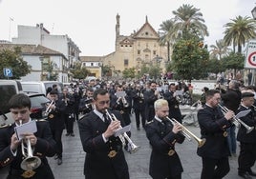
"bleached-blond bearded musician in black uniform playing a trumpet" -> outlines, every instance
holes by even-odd
[[[153,179],[181,179],[181,160],[175,150],[175,143],[182,143],[184,135],[181,126],[166,119],[168,102],[159,99],[154,103],[155,118],[146,127],[146,136],[152,146],[149,174]]]

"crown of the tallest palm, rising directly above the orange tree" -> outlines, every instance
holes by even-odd
[[[208,36],[209,33],[204,25],[203,13],[199,10],[192,5],[182,5],[178,10],[173,10],[176,31],[181,30],[182,35],[193,32],[202,38]]]

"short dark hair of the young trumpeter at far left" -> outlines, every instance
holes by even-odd
[[[14,94],[8,103],[9,109],[32,108],[32,102],[29,96],[24,93]]]

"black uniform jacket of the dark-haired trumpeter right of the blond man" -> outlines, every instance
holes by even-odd
[[[224,118],[222,110],[204,105],[204,108],[198,111],[198,121],[202,138],[206,139],[203,147],[198,148],[198,155],[214,159],[227,157],[230,153],[226,129],[231,123]]]

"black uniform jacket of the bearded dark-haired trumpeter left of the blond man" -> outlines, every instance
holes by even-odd
[[[118,111],[113,113],[118,120],[122,120]],[[123,125],[124,122],[121,121],[121,124]],[[106,143],[103,140],[102,133],[107,127],[94,111],[87,113],[78,121],[81,143],[86,152],[85,177],[89,179],[128,179],[128,165],[124,158],[120,139],[112,136]],[[117,152],[117,154],[110,157],[111,151]]]

